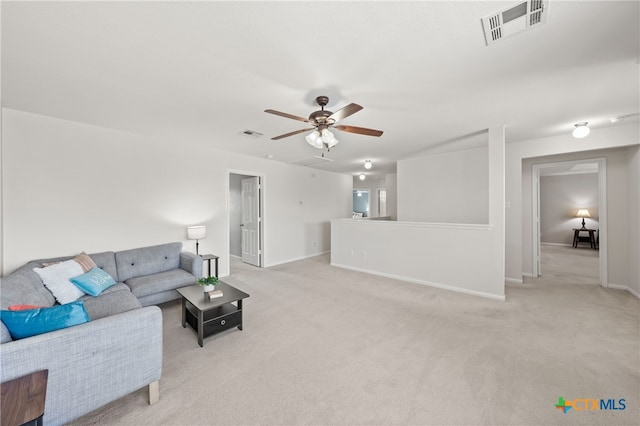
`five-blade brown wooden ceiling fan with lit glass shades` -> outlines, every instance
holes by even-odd
[[[358,133],[360,135],[367,136],[382,135],[381,130],[367,129],[364,127],[356,126],[346,126],[342,124],[336,125],[338,121],[360,111],[362,109],[360,105],[352,103],[342,109],[339,109],[336,112],[331,112],[324,109],[324,107],[329,103],[329,98],[327,96],[318,96],[316,98],[316,102],[318,103],[318,105],[320,105],[320,110],[312,112],[311,115],[309,115],[309,118],[298,117],[296,115],[287,114],[286,112],[280,112],[273,109],[264,110],[264,112],[268,112],[269,114],[291,118],[292,120],[303,121],[313,126],[306,129],[296,130],[295,132],[285,133],[284,135],[273,137],[271,138],[271,140],[275,141],[312,130],[312,132],[305,137],[306,141],[309,142],[309,145],[318,149],[326,148],[327,151],[329,151],[331,148],[338,144],[338,140],[335,138],[335,136],[333,136],[333,133],[329,131],[330,128],[341,130],[343,132]]]

